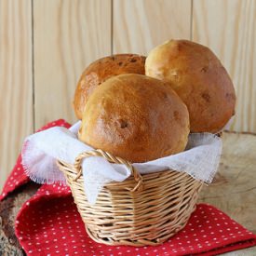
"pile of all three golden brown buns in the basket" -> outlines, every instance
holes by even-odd
[[[74,94],[78,138],[132,163],[182,152],[189,132],[220,131],[236,94],[208,47],[170,40],[147,58],[117,54],[91,63]]]

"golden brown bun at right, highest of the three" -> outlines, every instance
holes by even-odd
[[[233,83],[208,47],[170,40],[149,53],[145,73],[170,83],[187,105],[193,132],[217,132],[235,114]]]

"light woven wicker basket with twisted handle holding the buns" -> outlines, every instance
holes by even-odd
[[[88,204],[81,170],[82,159],[91,155],[125,164],[132,173],[124,182],[105,185],[95,205]],[[202,187],[202,182],[173,170],[141,176],[127,161],[101,150],[79,155],[74,165],[60,161],[58,165],[71,187],[88,236],[107,245],[140,247],[165,242],[184,227]]]

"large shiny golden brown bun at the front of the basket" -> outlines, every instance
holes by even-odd
[[[164,82],[141,74],[120,74],[90,96],[79,139],[130,162],[182,152],[189,115]]]

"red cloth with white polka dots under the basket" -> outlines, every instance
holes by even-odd
[[[70,125],[57,120],[44,128]],[[28,182],[17,164],[7,179],[0,199]],[[27,255],[166,256],[217,255],[256,245],[256,236],[219,209],[198,204],[189,222],[178,234],[156,247],[106,246],[90,239],[67,186],[44,184],[20,209],[16,235]]]

